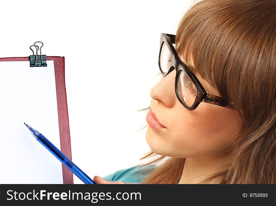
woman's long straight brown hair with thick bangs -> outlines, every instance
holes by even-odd
[[[231,99],[242,120],[232,161],[200,183],[219,177],[218,183],[275,184],[276,1],[199,1],[181,19],[175,42],[178,55],[187,65],[192,59],[194,70]],[[142,183],[175,184],[184,163],[170,157]]]

